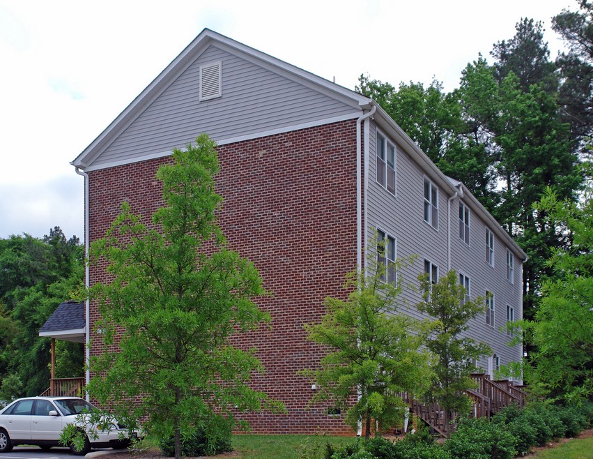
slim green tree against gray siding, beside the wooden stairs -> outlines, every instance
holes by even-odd
[[[484,311],[484,299],[468,298],[455,271],[449,271],[436,283],[431,283],[426,274],[419,280],[424,301],[416,308],[433,319],[426,339],[426,348],[436,356],[435,384],[429,396],[445,409],[448,426],[453,413],[467,414],[470,409],[471,400],[465,391],[475,386],[472,361],[491,352],[485,343],[462,337],[469,321]]]

